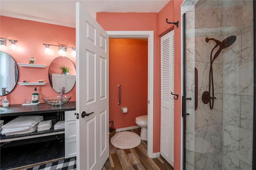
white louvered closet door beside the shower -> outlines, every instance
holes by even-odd
[[[174,162],[174,30],[161,37],[161,133],[160,154]]]

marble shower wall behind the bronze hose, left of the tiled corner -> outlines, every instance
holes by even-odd
[[[198,69],[198,108],[195,111],[194,169],[221,170],[222,167],[222,53],[214,60],[214,107],[202,102],[202,93],[209,91],[210,54],[216,43],[206,38],[222,40],[222,2],[199,1],[195,10],[195,67]],[[214,49],[212,56],[218,48]]]

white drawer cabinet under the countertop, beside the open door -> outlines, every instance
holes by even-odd
[[[65,158],[76,156],[76,111],[65,111]]]

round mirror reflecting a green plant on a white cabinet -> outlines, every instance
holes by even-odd
[[[64,87],[64,93],[68,93],[76,83],[76,67],[68,57],[57,57],[49,67],[48,77],[54,91],[59,93]]]

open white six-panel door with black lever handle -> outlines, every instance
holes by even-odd
[[[109,152],[108,34],[76,3],[77,169],[100,170]],[[86,115],[89,114],[89,115]]]

